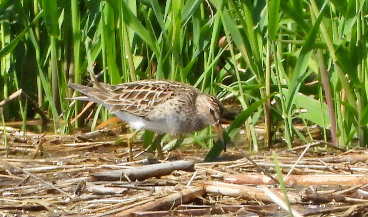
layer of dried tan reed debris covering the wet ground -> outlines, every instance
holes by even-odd
[[[10,147],[0,159],[2,216],[366,216],[368,151],[306,146],[242,157],[247,147],[229,148],[227,161],[203,162],[203,150],[180,147],[151,164],[116,135],[100,131],[74,136],[7,129]],[[98,141],[102,138],[103,141]],[[2,141],[1,141],[2,143]],[[321,146],[319,146],[321,147]],[[303,149],[306,150],[303,152]],[[5,156],[5,147],[0,147]],[[231,157],[234,156],[234,157]],[[254,165],[256,164],[257,167]],[[289,173],[289,174],[288,174]],[[288,175],[286,175],[288,174]],[[286,196],[291,210],[285,203]]]

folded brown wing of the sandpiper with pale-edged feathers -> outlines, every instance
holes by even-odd
[[[94,97],[110,105],[110,113],[123,111],[145,119],[165,115],[168,106],[180,108],[194,103],[199,91],[190,85],[167,80],[142,80],[118,85],[96,83],[95,86],[98,91],[93,92]]]

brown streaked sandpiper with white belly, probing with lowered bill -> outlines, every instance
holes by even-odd
[[[85,95],[75,99],[102,104],[109,113],[135,129],[127,142],[130,161],[133,161],[131,142],[140,130],[177,135],[196,132],[211,124],[226,150],[219,123],[223,106],[212,95],[170,80],[141,80],[117,85],[95,81],[94,85],[69,84],[69,87]],[[159,158],[163,158],[160,144],[156,148]]]

